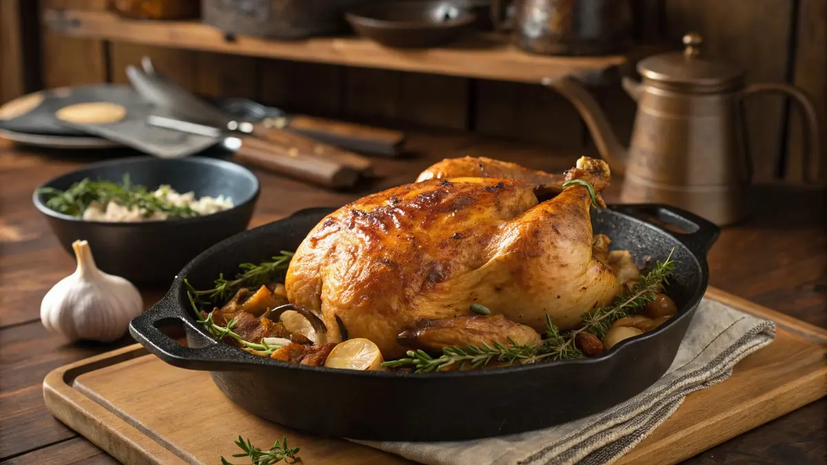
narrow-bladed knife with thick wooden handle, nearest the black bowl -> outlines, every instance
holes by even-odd
[[[147,116],[146,123],[151,127],[164,127],[218,139],[224,148],[233,152],[236,161],[290,175],[317,185],[347,188],[352,187],[359,180],[359,172],[351,166],[313,154],[299,155],[299,151],[295,148],[287,148],[256,137],[243,134],[228,135],[218,127],[158,114]]]

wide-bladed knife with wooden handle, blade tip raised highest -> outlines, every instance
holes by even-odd
[[[169,108],[170,111],[184,119],[207,123],[214,127],[226,128],[232,132],[250,134],[276,144],[281,144],[287,148],[294,148],[299,151],[299,156],[303,156],[306,153],[313,153],[316,156],[349,165],[365,174],[370,173],[372,170],[372,162],[365,156],[343,151],[335,146],[322,142],[313,141],[298,133],[287,132],[284,128],[277,127],[276,125],[265,126],[262,122],[251,123],[238,121],[235,117],[232,117],[232,115],[203,101],[193,93],[189,93],[189,91],[175,84],[171,79],[160,76],[157,72],[150,75],[130,65],[127,66],[127,76],[136,91],[141,93],[144,98],[160,107]]]

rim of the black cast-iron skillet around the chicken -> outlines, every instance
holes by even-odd
[[[614,208],[613,208],[614,207]],[[718,236],[719,229],[715,227],[715,225],[705,222],[702,224],[698,224],[699,227],[695,232],[690,232],[686,234],[670,232],[663,228],[657,227],[657,225],[653,223],[649,223],[644,221],[640,218],[635,218],[634,216],[630,215],[629,213],[624,213],[619,211],[619,209],[623,209],[623,207],[629,207],[629,205],[610,205],[607,209],[602,209],[603,211],[607,211],[610,214],[619,215],[620,217],[624,218],[625,221],[632,221],[633,223],[637,223],[638,226],[643,226],[645,228],[649,228],[653,233],[667,238],[669,242],[674,243],[675,247],[683,247],[685,252],[689,256],[691,256],[695,263],[693,267],[700,271],[700,284],[698,285],[694,294],[691,295],[690,298],[687,300],[687,304],[681,306],[678,309],[678,315],[676,318],[672,318],[667,320],[666,324],[662,324],[661,326],[657,327],[655,330],[649,333],[643,333],[640,336],[635,338],[630,338],[618,343],[614,348],[609,351],[605,351],[598,357],[584,357],[578,359],[566,359],[566,360],[555,360],[552,362],[541,362],[541,363],[533,363],[527,365],[519,365],[519,366],[509,366],[509,367],[496,367],[490,368],[487,370],[472,370],[472,371],[451,371],[451,372],[424,372],[424,373],[417,373],[417,372],[391,372],[391,371],[370,371],[370,372],[361,372],[356,370],[342,370],[337,368],[328,368],[328,367],[309,367],[307,365],[299,365],[296,363],[289,363],[289,362],[282,362],[279,360],[273,360],[269,357],[259,357],[247,352],[242,351],[240,348],[233,347],[229,344],[222,343],[213,338],[212,335],[207,333],[205,329],[201,327],[200,324],[197,324],[194,320],[194,315],[189,310],[189,304],[187,303],[187,299],[185,296],[185,288],[184,288],[184,279],[192,271],[196,266],[199,266],[202,262],[208,261],[211,256],[220,253],[223,249],[227,247],[232,247],[232,245],[236,244],[237,242],[241,242],[242,240],[246,240],[247,236],[254,235],[256,233],[261,233],[261,230],[264,228],[275,228],[275,224],[281,223],[285,220],[289,220],[290,218],[298,218],[300,215],[306,214],[313,214],[313,213],[320,213],[323,216],[319,219],[321,221],[323,218],[327,216],[327,214],[332,213],[339,207],[318,207],[312,209],[302,209],[297,212],[292,213],[288,217],[281,218],[280,220],[276,220],[275,222],[266,223],[261,225],[257,228],[252,228],[244,232],[239,232],[235,236],[228,237],[222,242],[218,242],[218,244],[214,245],[213,247],[208,248],[206,251],[202,252],[198,256],[196,256],[192,261],[190,261],[184,269],[182,269],[178,275],[175,276],[175,279],[170,285],[170,290],[167,294],[155,305],[152,306],[150,310],[146,312],[148,314],[155,309],[156,306],[165,306],[168,305],[170,309],[174,309],[177,315],[174,315],[173,318],[179,319],[180,323],[194,329],[197,333],[199,338],[202,338],[205,341],[210,341],[206,343],[202,348],[210,348],[217,345],[226,346],[227,350],[232,351],[232,355],[236,356],[235,359],[222,359],[222,360],[213,360],[213,361],[205,361],[206,364],[211,362],[216,363],[217,365],[223,364],[231,364],[233,367],[215,367],[216,369],[211,368],[194,368],[194,367],[186,367],[183,364],[178,365],[180,367],[184,367],[186,369],[194,369],[199,371],[211,371],[211,372],[254,372],[259,370],[271,370],[275,368],[286,368],[286,369],[293,369],[293,370],[302,370],[304,372],[312,372],[312,373],[335,373],[337,376],[360,376],[367,379],[389,379],[389,380],[398,380],[398,379],[418,379],[423,381],[430,381],[434,379],[454,379],[457,377],[466,377],[466,376],[498,376],[502,373],[511,373],[511,372],[531,372],[535,370],[543,370],[543,369],[552,369],[553,367],[560,367],[562,365],[600,365],[600,364],[608,364],[613,357],[619,357],[616,354],[629,352],[633,350],[638,344],[642,344],[649,339],[658,338],[662,335],[662,333],[666,332],[668,328],[671,328],[673,325],[678,324],[679,321],[685,318],[691,318],[694,314],[694,310],[697,309],[700,301],[703,299],[705,295],[706,289],[709,286],[709,268],[706,261],[705,250],[694,250],[694,247],[691,246],[689,239],[694,237],[699,230],[703,230],[704,228],[711,229],[708,234],[710,238],[708,239],[709,244],[706,244],[705,248],[708,249],[712,243],[715,242],[715,239]],[[650,209],[667,209],[672,210],[672,212],[677,212],[684,214],[686,213],[690,218],[690,221],[704,221],[703,218],[696,218],[695,215],[691,213],[685,212],[681,209],[676,209],[672,206],[666,206],[661,204],[639,204],[636,205],[639,209],[643,208],[650,208]],[[325,212],[325,213],[323,213]],[[714,228],[714,229],[713,229]],[[681,239],[683,237],[683,239]],[[693,273],[696,271],[693,271]],[[184,302],[182,307],[181,303]],[[171,313],[171,312],[170,312]],[[185,318],[181,318],[181,314],[185,315]],[[140,318],[140,317],[137,317]],[[152,322],[150,322],[152,324]],[[130,329],[132,330],[132,324],[130,324]],[[132,332],[132,331],[131,331]],[[144,345],[145,348],[149,349],[149,352],[155,353],[155,355],[159,355],[155,351],[151,350],[150,347],[144,343],[144,340],[151,343],[150,338],[146,338],[143,334],[141,334],[141,338],[138,339],[138,342],[141,345]],[[133,336],[135,334],[133,333]],[[166,336],[163,336],[166,337]],[[188,333],[188,338],[191,338]],[[183,346],[182,346],[183,347]],[[160,357],[160,356],[159,356]],[[165,359],[165,357],[160,357],[161,359]],[[188,360],[188,357],[173,357],[174,359],[179,359],[184,362]],[[192,360],[192,359],[190,359]],[[170,363],[168,360],[165,362]],[[174,363],[170,363],[175,365]]]

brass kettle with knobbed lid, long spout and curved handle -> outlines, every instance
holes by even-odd
[[[643,81],[623,79],[638,103],[629,150],[614,136],[605,114],[575,79],[543,84],[568,98],[581,113],[595,146],[614,174],[624,175],[624,203],[672,204],[725,225],[748,213],[751,163],[740,103],[755,93],[787,93],[805,116],[805,170],[819,156],[815,108],[802,89],[788,84],[746,86],[743,70],[700,54],[697,33],[683,37],[683,52],[638,63]],[[809,180],[805,171],[805,180]]]

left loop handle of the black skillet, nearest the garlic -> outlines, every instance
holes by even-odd
[[[208,338],[197,330],[188,331],[188,333],[193,336],[196,343],[203,344],[203,346],[198,348],[182,346],[158,328],[168,324],[183,324],[185,328],[193,326],[174,308],[170,294],[131,320],[129,333],[132,338],[141,343],[146,350],[174,367],[219,371],[222,358],[224,358],[222,356],[225,350],[230,348],[229,346]]]

